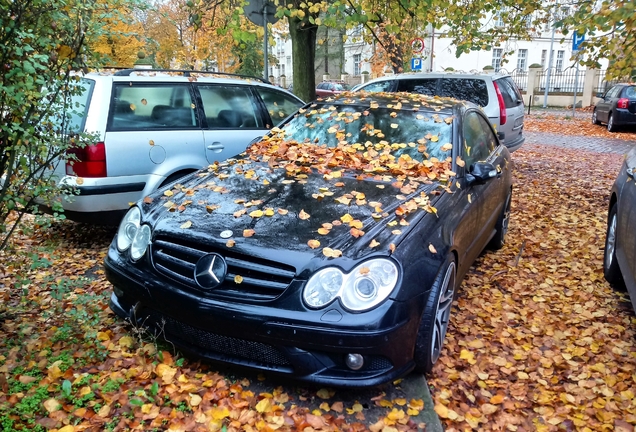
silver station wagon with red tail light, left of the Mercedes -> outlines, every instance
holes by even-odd
[[[223,77],[221,77],[223,75]],[[97,140],[71,149],[56,174],[77,195],[68,219],[116,224],[156,189],[244,151],[303,102],[258,78],[196,71],[126,69],[82,75],[69,113]],[[79,112],[77,112],[79,111]],[[45,209],[46,210],[46,209]]]

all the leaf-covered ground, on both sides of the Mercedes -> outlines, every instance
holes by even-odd
[[[587,135],[576,122],[527,126]],[[636,320],[602,274],[621,160],[539,145],[513,154],[508,244],[466,277],[429,380],[447,430],[633,430]],[[107,307],[101,262],[113,235],[31,222],[0,256],[0,430],[424,428],[424,402],[400,383],[298,388],[219,372],[144,337]]]

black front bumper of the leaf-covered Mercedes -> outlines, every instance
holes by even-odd
[[[414,367],[422,298],[388,300],[358,314],[337,305],[319,311],[285,309],[276,306],[286,303],[280,298],[261,304],[228,302],[196,295],[147,268],[126,264],[114,249],[105,260],[106,277],[115,287],[111,309],[154,328],[185,352],[331,386],[379,385]],[[361,369],[346,366],[349,353],[364,357]]]

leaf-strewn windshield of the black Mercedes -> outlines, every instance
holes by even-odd
[[[395,157],[408,154],[422,162],[425,158],[443,160],[450,156],[444,145],[452,139],[451,123],[452,116],[435,112],[319,105],[296,116],[282,129],[285,140],[328,147],[387,147]]]

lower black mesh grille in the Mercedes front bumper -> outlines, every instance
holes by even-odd
[[[258,362],[266,367],[290,366],[285,355],[271,345],[210,333],[173,318],[162,316],[155,311],[150,312],[149,317],[168,340],[176,338],[198,350],[207,352],[207,354],[218,355],[211,355],[211,357],[229,356]]]

